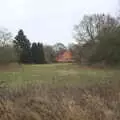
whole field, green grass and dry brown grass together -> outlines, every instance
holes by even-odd
[[[120,71],[73,64],[0,70],[0,120],[119,120]]]

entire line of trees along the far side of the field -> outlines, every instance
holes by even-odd
[[[120,64],[119,17],[106,14],[85,15],[74,26],[73,33],[76,44],[71,43],[66,47],[62,43],[31,43],[23,30],[19,30],[15,39],[11,40],[10,32],[0,30],[0,63],[53,63],[61,51],[69,50],[76,63],[104,66]]]

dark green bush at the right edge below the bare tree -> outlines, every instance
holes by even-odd
[[[120,64],[120,27],[111,29],[99,36],[100,42],[91,55],[90,62],[104,61],[106,65]]]

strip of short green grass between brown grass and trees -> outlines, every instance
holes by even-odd
[[[87,68],[72,64],[23,65],[19,69],[0,71],[0,80],[10,86],[40,82],[84,87],[118,79],[119,70]]]

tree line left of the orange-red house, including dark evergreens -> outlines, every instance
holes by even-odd
[[[31,43],[21,29],[12,39],[7,29],[0,30],[0,64],[18,62],[23,64],[45,64],[56,62],[60,51],[67,49],[62,43],[43,45]]]

